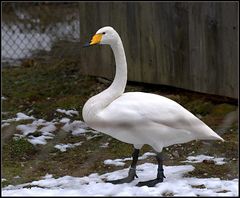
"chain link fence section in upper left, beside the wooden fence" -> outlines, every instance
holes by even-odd
[[[3,65],[49,54],[73,56],[79,40],[78,2],[2,3]]]

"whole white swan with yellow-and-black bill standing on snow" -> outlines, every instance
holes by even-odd
[[[87,46],[94,44],[110,45],[116,61],[116,74],[108,89],[85,103],[83,119],[91,128],[133,144],[135,148],[128,177],[110,182],[124,183],[134,179],[139,149],[144,144],[152,146],[158,153],[158,175],[154,180],[139,182],[138,186],[154,186],[163,181],[163,147],[195,139],[223,141],[206,124],[173,100],[150,93],[124,93],[127,62],[121,38],[112,27],[99,29]]]

